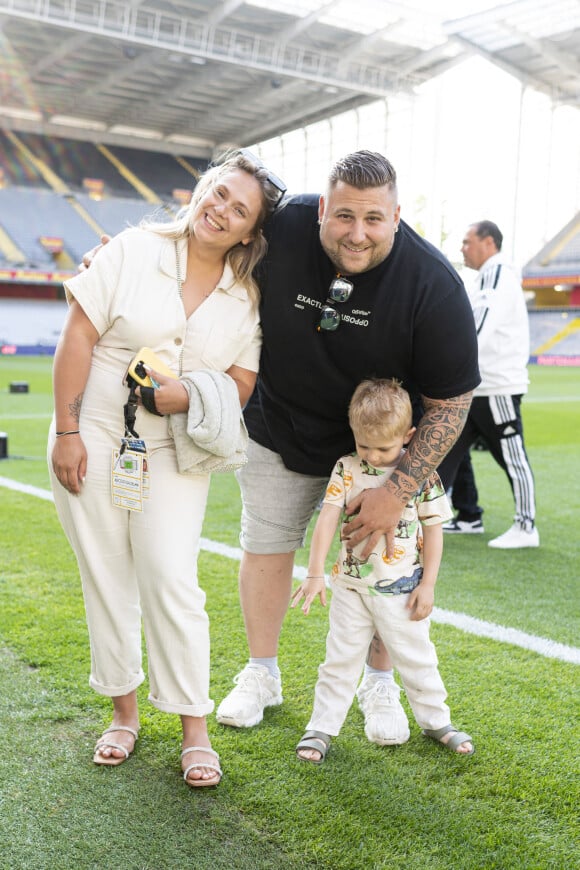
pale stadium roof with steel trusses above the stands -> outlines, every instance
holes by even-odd
[[[0,0],[0,124],[210,157],[474,54],[580,107],[579,46],[578,0]]]

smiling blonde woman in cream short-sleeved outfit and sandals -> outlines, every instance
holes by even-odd
[[[283,192],[256,158],[236,152],[205,173],[174,222],[122,232],[90,270],[65,283],[70,308],[54,359],[49,466],[82,578],[90,685],[113,703],[94,761],[121,764],[135,746],[142,621],[149,698],[181,717],[182,769],[194,787],[221,778],[205,719],[213,710],[209,630],[196,573],[209,475],[179,473],[170,417],[140,406],[133,426],[124,422],[124,375],[148,346],[176,376],[226,372],[243,407],[261,342],[252,272],[266,248],[261,227]],[[152,375],[157,411],[187,412],[184,384]],[[131,429],[147,453],[142,463],[132,454],[138,497],[127,509],[113,504],[112,493],[118,496],[120,455],[130,465],[121,439]],[[129,444],[129,453],[131,446],[139,450]]]

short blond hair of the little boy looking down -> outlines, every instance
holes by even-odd
[[[361,381],[348,407],[350,428],[372,435],[406,435],[413,425],[409,393],[396,378]]]

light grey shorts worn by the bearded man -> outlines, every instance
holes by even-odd
[[[306,530],[326,491],[327,477],[289,471],[280,456],[255,441],[236,471],[242,491],[240,543],[248,553],[290,553],[304,546]]]

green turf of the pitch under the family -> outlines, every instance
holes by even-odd
[[[0,476],[48,487],[50,360],[0,359]],[[507,481],[476,453],[485,535],[446,538],[437,605],[578,643],[578,369],[531,369],[524,420],[538,484],[539,550],[491,551],[511,522]],[[9,394],[11,380],[30,393]],[[16,458],[17,456],[27,458]],[[574,486],[576,479],[576,486]],[[239,496],[212,482],[204,536],[237,546]],[[194,792],[179,775],[176,717],[140,689],[142,731],[117,769],[92,765],[108,702],[88,687],[74,558],[50,502],[0,488],[0,868],[328,868],[561,870],[578,852],[578,668],[433,624],[456,724],[476,754],[421,737],[380,748],[353,705],[327,762],[298,762],[324,655],[326,612],[292,611],[280,660],[285,701],[248,731],[210,733],[225,776]],[[299,561],[305,563],[305,554]],[[212,626],[212,694],[246,656],[235,561],[202,552]],[[405,702],[406,703],[406,702]]]

